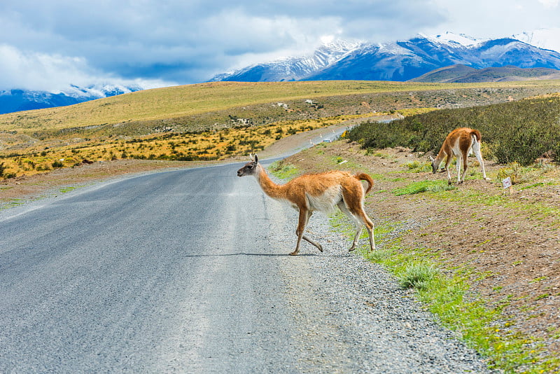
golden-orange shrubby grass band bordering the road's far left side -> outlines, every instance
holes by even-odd
[[[382,116],[386,113],[377,113]],[[367,116],[374,116],[369,113]],[[2,158],[3,176],[31,175],[83,162],[135,158],[141,160],[221,160],[265,149],[292,134],[336,125],[363,116],[336,116],[319,120],[283,121],[264,126],[232,127],[192,134],[151,134],[128,139],[83,141],[43,149],[31,146]]]

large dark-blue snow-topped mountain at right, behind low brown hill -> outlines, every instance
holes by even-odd
[[[386,46],[370,45],[369,48],[354,51],[307,79],[407,81],[453,64],[464,64],[475,69],[507,65],[560,69],[560,53],[514,39],[496,39],[463,46],[459,43],[440,43],[421,36],[410,41]]]

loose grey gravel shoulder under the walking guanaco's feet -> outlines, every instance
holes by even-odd
[[[271,243],[283,245],[288,253],[295,245],[297,216],[281,204],[276,212],[286,227]],[[405,223],[399,230],[417,225]],[[282,263],[300,331],[294,353],[301,372],[496,373],[423,310],[413,291],[400,289],[380,265],[349,253],[349,238],[335,232],[327,216],[314,215],[308,231],[323,244],[323,253],[302,243],[300,255],[286,256]],[[383,249],[383,241],[376,240]]]

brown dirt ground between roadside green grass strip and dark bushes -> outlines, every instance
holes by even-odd
[[[465,183],[442,193],[395,194],[413,182],[445,179],[445,174],[411,172],[408,164],[427,161],[405,148],[373,154],[338,141],[311,148],[286,162],[305,172],[360,169],[374,176],[366,210],[376,224],[419,223],[400,245],[428,254],[449,271],[470,271],[473,298],[502,307],[499,330],[516,329],[542,339],[560,354],[560,172],[549,167],[534,181],[514,186],[510,195],[497,178],[500,165],[485,162]],[[342,163],[344,162],[344,164]],[[338,165],[337,165],[338,164]],[[453,169],[451,175],[454,176]]]

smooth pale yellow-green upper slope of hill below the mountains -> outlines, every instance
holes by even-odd
[[[126,123],[134,120],[179,118],[249,104],[315,99],[367,92],[515,88],[559,85],[560,81],[498,83],[409,83],[389,81],[304,81],[273,83],[213,82],[132,92],[71,106],[7,113],[0,116],[0,131],[63,129]]]

